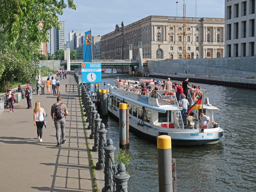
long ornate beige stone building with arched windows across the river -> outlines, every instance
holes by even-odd
[[[181,59],[183,17],[148,16],[135,23],[116,25],[115,31],[101,37],[101,59],[138,59],[142,41],[143,58]],[[186,18],[186,53],[188,58],[224,57],[224,19]]]

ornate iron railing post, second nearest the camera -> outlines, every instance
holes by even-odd
[[[112,139],[108,139],[106,141],[106,147],[104,147],[105,151],[105,167],[104,167],[104,187],[102,188],[102,192],[110,192],[111,191],[111,179],[113,178],[112,172],[112,158],[114,158],[116,147],[113,146]]]

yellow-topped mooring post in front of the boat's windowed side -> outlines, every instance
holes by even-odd
[[[129,121],[127,121],[127,110],[126,103],[119,104],[119,146],[129,146]],[[129,117],[128,117],[129,120]]]

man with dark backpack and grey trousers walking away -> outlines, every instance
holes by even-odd
[[[62,136],[62,144],[66,143],[65,138],[65,127],[66,127],[66,116],[69,114],[67,106],[61,102],[61,97],[57,97],[57,102],[52,105],[51,108],[51,116],[54,121],[55,129],[56,129],[56,138],[57,145],[60,144],[60,129]]]

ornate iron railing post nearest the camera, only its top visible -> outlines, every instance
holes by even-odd
[[[117,166],[117,171],[117,174],[113,176],[116,183],[115,192],[127,192],[127,183],[130,175],[125,172],[125,165],[123,163]]]

